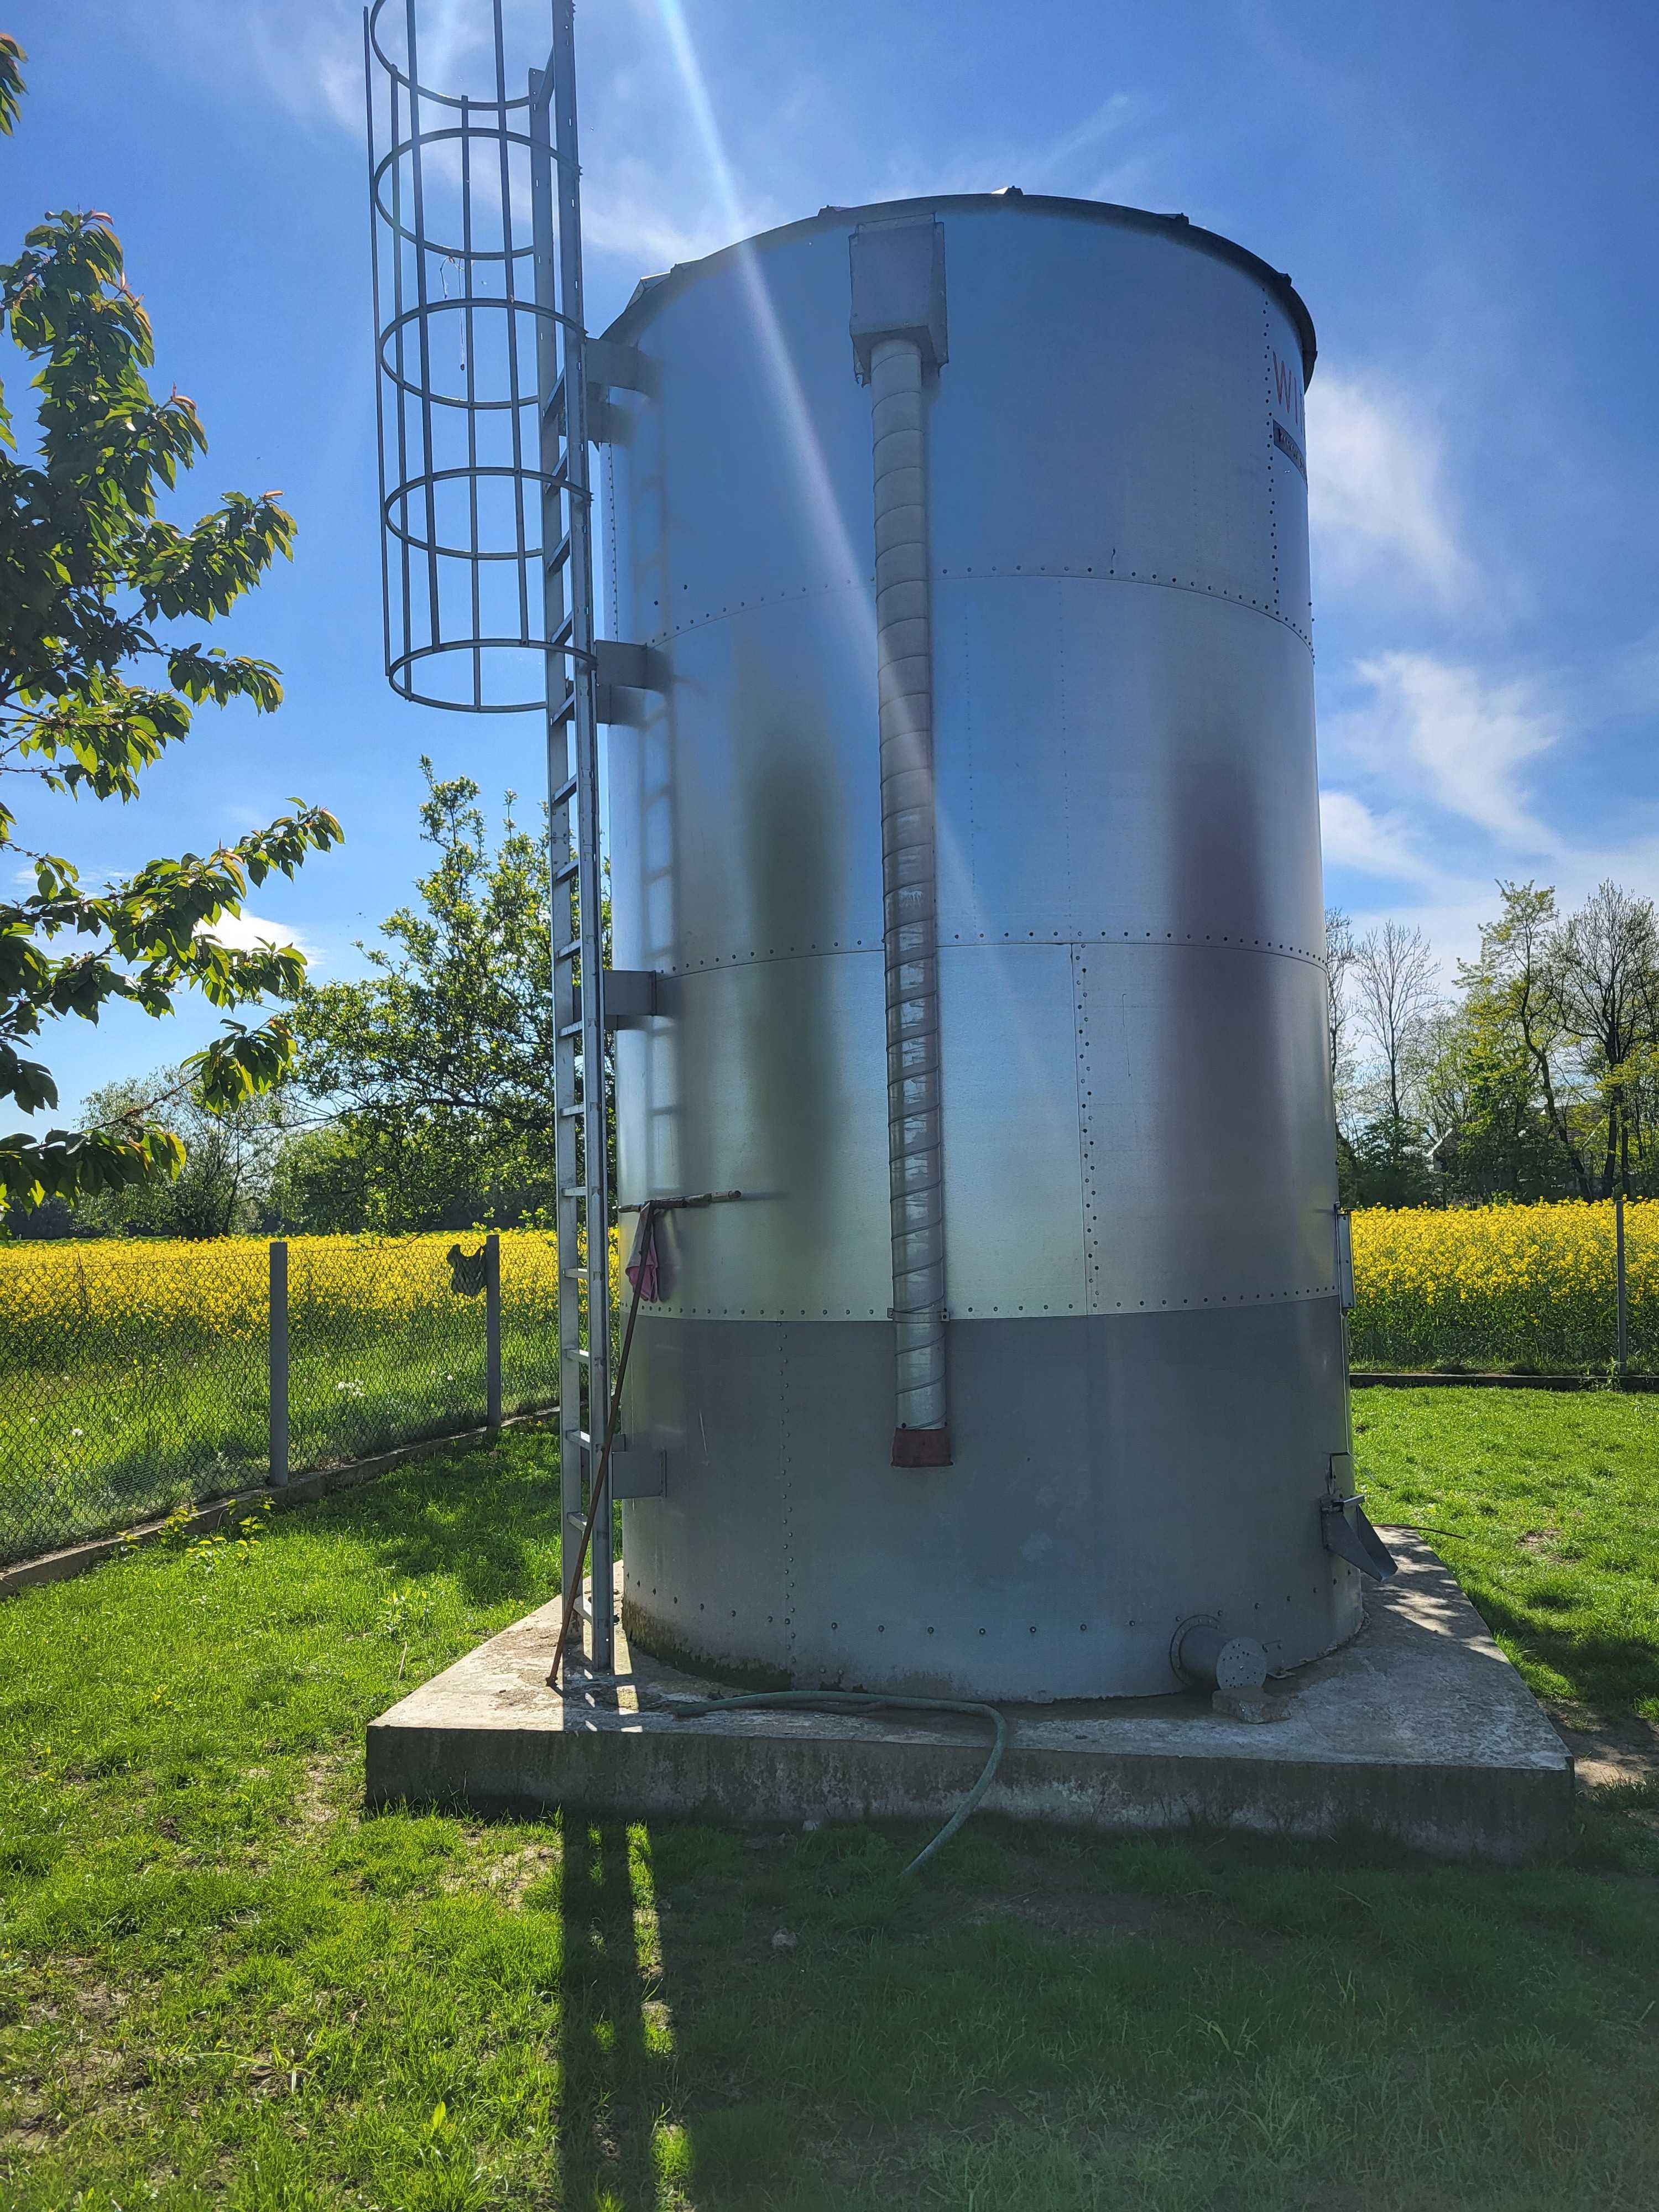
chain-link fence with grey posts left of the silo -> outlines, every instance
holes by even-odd
[[[551,1407],[555,1241],[498,1250],[495,1296],[478,1234],[0,1245],[0,1564],[478,1429],[491,1345],[498,1411]]]

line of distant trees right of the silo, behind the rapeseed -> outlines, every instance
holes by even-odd
[[[1604,883],[1575,911],[1500,883],[1442,987],[1420,929],[1325,916],[1338,1175],[1352,1206],[1659,1190],[1659,920]]]

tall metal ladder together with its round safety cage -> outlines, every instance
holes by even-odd
[[[471,55],[484,88],[445,93],[420,77],[420,18],[422,0],[372,0],[363,15],[385,668],[394,690],[420,706],[546,717],[568,1597],[580,1571],[571,1528],[586,1520],[591,1438],[611,1398],[575,22],[573,0],[553,0],[549,64],[509,93],[502,0],[491,0],[478,11],[484,29]],[[467,60],[465,44],[458,58]],[[606,376],[619,367],[604,363]],[[582,1608],[599,1672],[613,1666],[611,1551],[604,1502]]]

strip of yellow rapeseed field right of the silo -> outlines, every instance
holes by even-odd
[[[1626,1206],[1630,1363],[1659,1356],[1659,1199]],[[1613,1206],[1354,1214],[1356,1367],[1606,1367],[1615,1354]]]

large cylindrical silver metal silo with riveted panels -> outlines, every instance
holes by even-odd
[[[1327,1650],[1303,303],[1181,217],[975,195],[606,336],[619,1194],[743,1190],[659,1228],[624,1626],[1015,1699],[1170,1690],[1194,1617]]]

